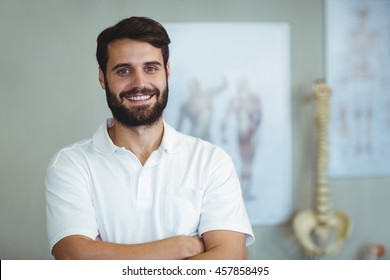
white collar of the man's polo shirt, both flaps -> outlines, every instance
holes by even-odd
[[[109,118],[94,133],[92,137],[93,146],[98,152],[110,155],[118,149],[121,149],[112,142],[110,136],[108,135],[108,128],[113,125],[114,120]],[[164,121],[164,135],[159,150],[169,154],[179,151],[181,144],[179,136],[180,133]]]

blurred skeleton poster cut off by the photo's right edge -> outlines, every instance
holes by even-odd
[[[390,0],[326,2],[329,176],[390,175]]]

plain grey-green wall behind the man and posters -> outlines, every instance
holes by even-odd
[[[294,209],[311,207],[312,82],[323,77],[322,0],[2,0],[0,2],[0,258],[48,259],[44,176],[53,153],[109,116],[97,81],[98,33],[121,18],[288,21],[292,40]],[[355,231],[333,258],[371,242],[390,248],[390,179],[332,182]],[[290,224],[255,228],[254,259],[299,259]]]

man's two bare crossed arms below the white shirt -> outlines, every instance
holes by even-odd
[[[56,259],[244,259],[245,234],[215,230],[196,236],[175,236],[142,244],[116,244],[81,235],[61,239]]]

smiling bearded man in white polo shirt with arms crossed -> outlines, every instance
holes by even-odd
[[[159,23],[141,17],[98,36],[113,118],[48,167],[56,259],[242,259],[253,242],[230,157],[163,120],[169,43]]]

